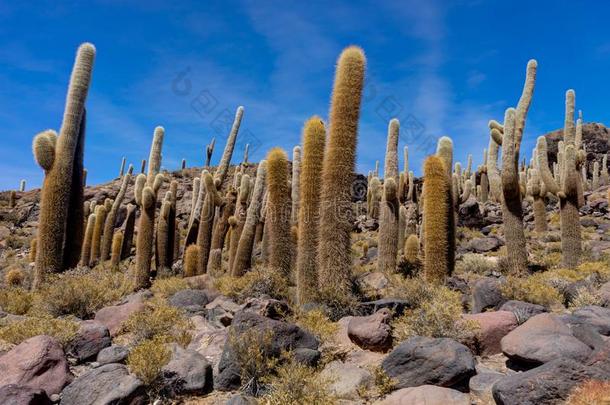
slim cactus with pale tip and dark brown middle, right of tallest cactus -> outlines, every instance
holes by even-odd
[[[398,200],[398,133],[400,124],[392,119],[388,125],[388,139],[384,163],[383,196],[379,220],[379,257],[377,270],[394,273],[398,255],[398,225],[400,202]]]

